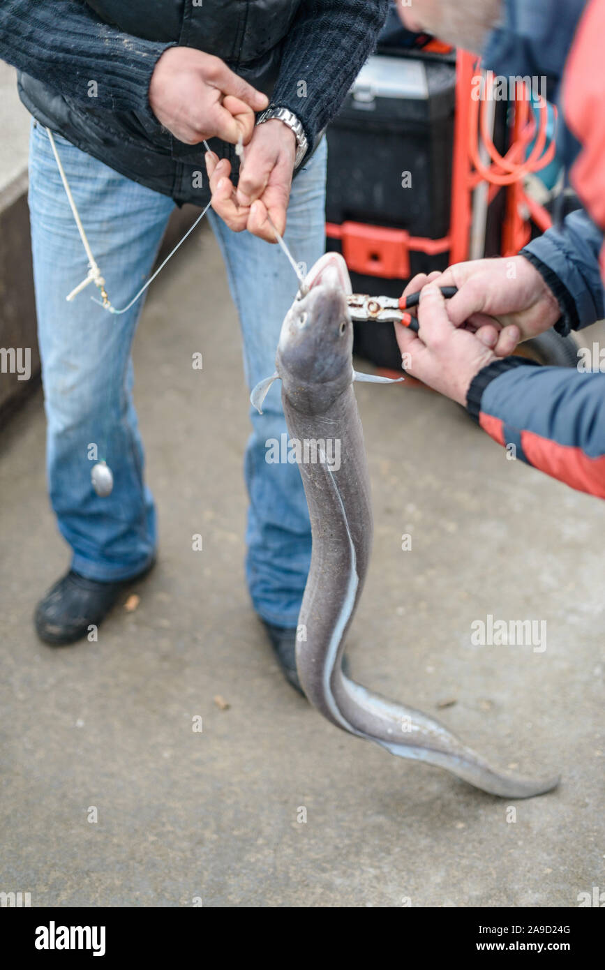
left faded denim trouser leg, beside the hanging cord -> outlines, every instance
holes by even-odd
[[[123,307],[151,269],[174,203],[55,141],[111,302]],[[130,349],[143,301],[114,316],[90,300],[98,296],[90,284],[66,302],[86,275],[86,256],[41,125],[32,126],[29,176],[50,501],[73,568],[91,579],[125,579],[148,565],[156,543],[132,402]],[[90,445],[113,471],[105,499],[91,487]]]

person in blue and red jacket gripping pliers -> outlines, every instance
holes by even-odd
[[[558,100],[558,152],[587,211],[572,212],[513,259],[415,276],[418,336],[396,326],[406,371],[466,406],[526,464],[605,498],[605,374],[536,367],[517,343],[605,316],[605,0],[398,0],[403,23],[483,52],[498,76],[548,78]],[[562,83],[561,83],[562,81]],[[592,221],[594,220],[594,221]],[[600,265],[599,265],[600,260]],[[458,287],[447,302],[439,287]]]

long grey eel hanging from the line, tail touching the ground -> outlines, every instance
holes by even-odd
[[[255,388],[251,399],[260,410],[271,381],[280,377],[291,439],[301,447],[303,442],[319,442],[320,460],[299,464],[313,540],[297,643],[304,693],[336,727],[401,758],[436,764],[484,792],[507,798],[549,792],[557,777],[531,779],[500,771],[438,721],[372,694],[341,670],[345,637],[366,579],[373,530],[366,447],[353,390],[354,379],[365,375],[352,367],[345,299],[350,282],[344,261],[327,254],[307,282],[308,293],[284,320],[277,370]],[[339,468],[322,451],[326,439],[339,441]]]

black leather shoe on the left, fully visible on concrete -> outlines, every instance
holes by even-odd
[[[138,575],[116,583],[86,579],[70,569],[50,587],[36,607],[34,622],[38,636],[53,647],[80,640],[90,626],[98,627],[103,622],[116,599],[128,586],[142,579],[154,562]]]

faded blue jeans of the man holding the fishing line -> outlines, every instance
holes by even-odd
[[[55,140],[111,303],[124,307],[151,271],[175,204],[65,139]],[[127,579],[150,564],[156,547],[153,499],[144,483],[132,397],[131,345],[143,300],[115,316],[92,303],[91,285],[66,303],[66,295],[86,275],[86,257],[40,124],[32,127],[29,177],[50,501],[73,549],[72,568],[91,579]],[[324,251],[325,180],[324,144],[295,179],[288,209],[286,240],[295,259],[307,266]],[[232,233],[213,212],[208,218],[238,307],[245,377],[253,387],[274,371],[281,322],[296,296],[297,280],[277,245],[247,232]],[[206,303],[211,306],[211,292]],[[266,440],[279,439],[286,430],[278,383],[263,411],[259,415],[250,409],[252,434],[244,462],[250,499],[246,579],[257,613],[294,627],[311,536],[298,467],[265,461]],[[219,429],[217,421],[217,436]],[[109,498],[99,498],[90,483],[91,443],[113,472]]]

